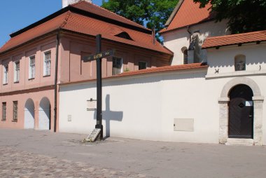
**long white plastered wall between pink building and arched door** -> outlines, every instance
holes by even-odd
[[[104,80],[104,135],[165,142],[218,143],[218,98],[223,86],[233,78],[205,79],[206,73],[206,70],[171,72]],[[265,76],[248,78],[258,83],[264,96]],[[95,111],[86,109],[87,100],[96,97],[95,85],[90,82],[61,86],[60,132],[88,134],[93,130]],[[174,131],[174,118],[193,118],[193,132]],[[266,144],[265,121],[264,116],[263,144]]]

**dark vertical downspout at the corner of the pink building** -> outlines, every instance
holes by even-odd
[[[56,52],[55,52],[55,108],[54,108],[54,132],[57,128],[57,79],[58,79],[58,53],[59,53],[59,30],[56,34]]]

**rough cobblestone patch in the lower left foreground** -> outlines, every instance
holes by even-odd
[[[0,147],[1,177],[147,177],[125,171],[93,167],[80,162],[59,160],[56,157],[43,156],[8,147]]]

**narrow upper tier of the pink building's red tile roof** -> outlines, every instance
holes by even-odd
[[[111,11],[106,10],[105,8],[102,8],[100,6],[97,6],[92,3],[87,3],[86,1],[79,1],[76,4],[71,4],[70,6],[73,6],[75,8],[79,8],[80,10],[87,11],[90,13],[94,13],[97,15],[101,15],[104,18],[110,18],[113,20],[117,20],[119,22],[123,22],[125,24],[133,25],[135,27],[140,27],[143,29],[146,29],[144,26],[137,24],[136,22],[133,22],[131,20],[128,20],[127,18],[124,18],[116,13],[113,13]]]

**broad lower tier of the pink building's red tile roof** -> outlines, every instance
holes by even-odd
[[[80,6],[81,5],[85,6],[84,5],[85,2],[84,1],[82,2],[83,3],[80,3]],[[89,4],[89,3],[85,3],[85,4]],[[77,6],[77,5],[78,4],[76,5],[74,4],[73,6]],[[92,5],[88,5],[88,6],[92,6]],[[109,11],[103,10],[102,8],[101,8],[101,11],[104,11],[105,13],[109,12]],[[109,13],[115,16],[113,13],[111,12]],[[118,15],[118,17],[120,16]],[[27,41],[35,39],[38,36],[47,34],[48,32],[55,31],[56,29],[66,29],[66,30],[78,32],[81,34],[89,34],[92,36],[95,36],[97,34],[102,34],[103,39],[118,41],[120,43],[126,43],[132,46],[147,48],[150,50],[158,51],[160,53],[166,53],[166,54],[172,55],[172,52],[168,50],[167,48],[164,48],[160,43],[158,43],[158,41],[156,41],[156,43],[153,44],[153,39],[152,39],[151,34],[139,32],[131,28],[111,24],[109,22],[105,22],[100,19],[95,19],[95,18],[85,16],[85,15],[80,15],[78,13],[73,13],[71,11],[67,11],[65,13],[62,13],[61,15],[57,15],[55,18],[45,21],[41,23],[40,25],[37,25],[36,27],[29,28],[25,30],[25,32],[16,34],[6,44],[4,44],[2,48],[0,48],[0,53],[5,52],[6,50],[10,50],[11,48],[15,48],[16,46],[20,46],[21,44],[26,43]],[[133,41],[115,36],[116,34],[119,34],[120,32],[127,32],[127,34],[129,34],[130,37],[133,39]]]

